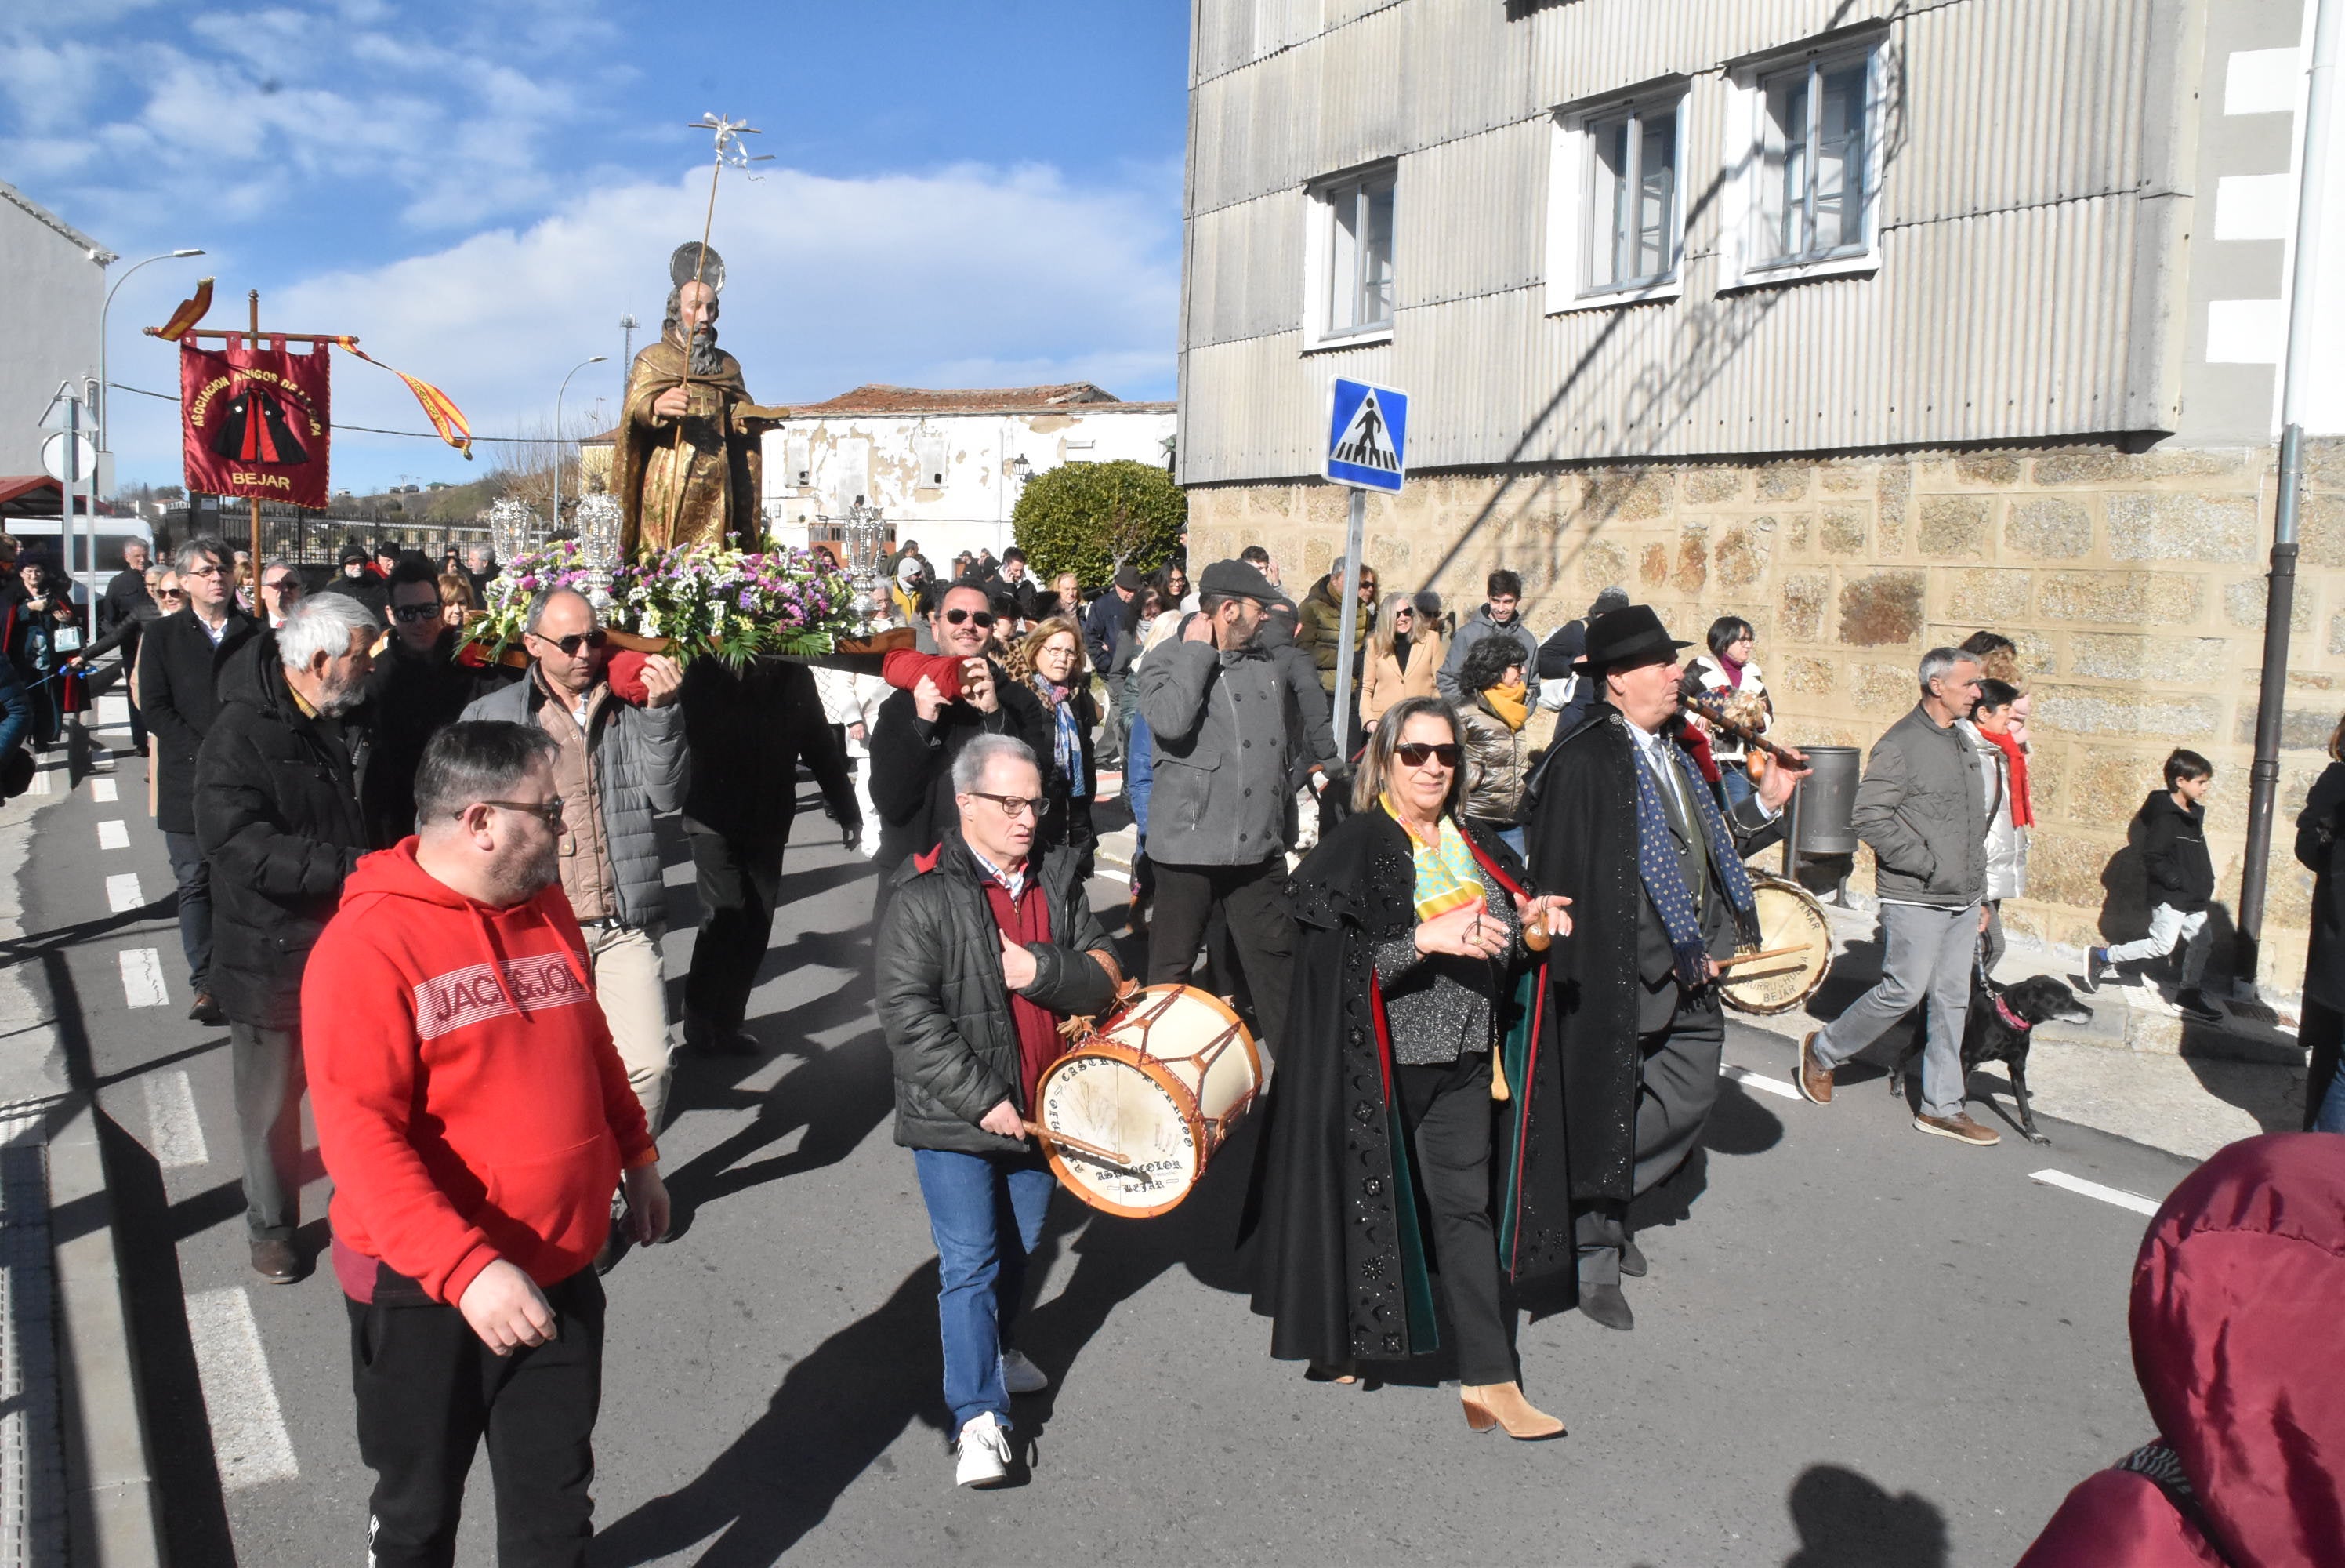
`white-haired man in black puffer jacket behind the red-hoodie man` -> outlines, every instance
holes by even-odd
[[[195,838],[211,864],[211,995],[227,1014],[253,1272],[291,1284],[300,1225],[300,974],[366,854],[354,737],[380,622],[356,599],[295,603],[220,669],[195,758]]]

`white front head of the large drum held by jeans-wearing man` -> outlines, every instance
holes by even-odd
[[[1119,1045],[1060,1056],[1036,1091],[1036,1122],[1123,1155],[1112,1164],[1065,1143],[1044,1143],[1060,1183],[1102,1214],[1151,1218],[1177,1207],[1205,1169],[1205,1122],[1163,1068]]]

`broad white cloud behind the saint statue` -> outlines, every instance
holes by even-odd
[[[865,380],[1097,380],[1123,397],[1172,397],[1177,171],[1074,188],[1048,167],[872,178],[764,169],[760,181],[725,174],[713,235],[727,265],[720,336],[762,401],[816,401]],[[551,420],[556,383],[589,354],[612,364],[582,371],[565,406],[598,394],[614,404],[619,315],[643,322],[638,347],[659,331],[668,251],[699,239],[706,200],[706,171],[610,183],[528,228],[310,277],[279,289],[267,315],[295,331],[356,333],[387,364],[446,387],[478,434],[518,434]],[[155,376],[148,359],[141,380]],[[396,378],[347,357],[335,371],[335,423],[424,430]],[[169,415],[122,399],[122,479],[176,477]],[[495,460],[483,446],[481,462]],[[335,441],[338,486],[476,472],[424,441]]]

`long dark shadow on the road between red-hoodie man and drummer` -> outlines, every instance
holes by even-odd
[[[790,1368],[732,1446],[682,1491],[654,1498],[598,1533],[596,1568],[650,1563],[715,1535],[701,1568],[764,1568],[818,1526],[856,1476],[889,1469],[889,1446],[922,1422],[938,1434],[950,1415],[936,1343],[936,1263],[912,1270],[896,1293],[840,1329]]]

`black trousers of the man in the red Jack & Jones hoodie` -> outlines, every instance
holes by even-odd
[[[499,1568],[575,1568],[593,1535],[593,1420],[603,1404],[603,1282],[551,1286],[558,1338],[495,1354],[436,1300],[349,1305],[349,1378],[373,1568],[450,1568],[464,1472],[488,1437]]]

